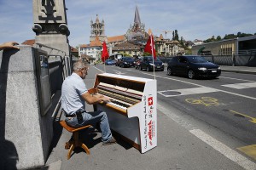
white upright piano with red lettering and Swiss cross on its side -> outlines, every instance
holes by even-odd
[[[94,108],[106,111],[114,133],[141,153],[157,145],[156,80],[102,73],[89,92],[111,99]]]

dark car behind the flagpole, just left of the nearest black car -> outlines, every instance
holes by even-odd
[[[139,70],[146,70],[146,71],[164,71],[165,65],[164,63],[156,58],[154,59],[153,64],[153,58],[152,56],[145,56],[143,57],[142,61],[140,62]]]

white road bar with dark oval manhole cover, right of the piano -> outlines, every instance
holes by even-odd
[[[168,92],[179,92],[179,94],[168,94]],[[218,89],[207,88],[207,87],[183,88],[183,89],[176,89],[176,90],[159,91],[158,93],[165,97],[174,97],[174,96],[180,96],[180,95],[206,94],[206,93],[212,93],[212,92],[218,92]]]

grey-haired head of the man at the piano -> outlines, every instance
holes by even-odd
[[[79,59],[73,64],[73,72],[77,73],[83,79],[86,77],[88,69],[89,65],[83,59]]]

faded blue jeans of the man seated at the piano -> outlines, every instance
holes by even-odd
[[[112,138],[112,133],[108,124],[108,116],[104,111],[83,112],[83,120],[78,120],[77,117],[66,117],[66,122],[71,127],[82,127],[92,125],[96,127],[100,125],[102,130],[102,142],[108,142]]]

